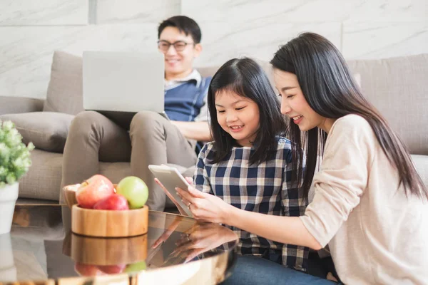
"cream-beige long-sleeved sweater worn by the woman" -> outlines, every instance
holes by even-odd
[[[335,121],[312,187],[300,219],[345,284],[428,284],[428,203],[398,187],[367,120]]]

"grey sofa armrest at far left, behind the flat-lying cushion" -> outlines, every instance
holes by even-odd
[[[0,115],[41,112],[44,99],[0,96]]]

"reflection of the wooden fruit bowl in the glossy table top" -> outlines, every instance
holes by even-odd
[[[137,237],[84,237],[70,233],[63,253],[76,262],[93,265],[132,264],[147,257],[147,234]]]

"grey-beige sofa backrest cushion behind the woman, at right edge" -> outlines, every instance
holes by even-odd
[[[348,61],[362,93],[387,119],[409,151],[428,155],[428,54]]]

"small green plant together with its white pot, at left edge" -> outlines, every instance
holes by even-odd
[[[22,136],[11,121],[0,120],[0,234],[11,231],[19,178],[31,166],[30,151],[34,145],[22,142]]]

